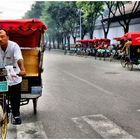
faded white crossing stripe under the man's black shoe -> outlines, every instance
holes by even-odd
[[[16,133],[17,132],[17,133]],[[8,128],[8,139],[47,139],[41,121],[12,125]]]

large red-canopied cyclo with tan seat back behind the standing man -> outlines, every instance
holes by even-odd
[[[21,105],[26,105],[29,100],[33,101],[34,114],[37,113],[37,101],[42,95],[42,76],[43,72],[43,55],[45,50],[45,31],[47,27],[39,19],[20,19],[20,20],[0,20],[0,27],[7,30],[9,33],[9,39],[15,41],[21,47],[22,55],[24,58],[24,65],[26,69],[26,76],[23,77],[21,84]],[[2,70],[2,72],[1,72]],[[0,69],[0,73],[3,73],[3,68]],[[4,75],[2,75],[4,76]],[[0,90],[1,90],[0,84]],[[2,85],[4,86],[4,85]],[[4,93],[5,91],[0,91]],[[9,105],[5,102],[6,94],[2,98],[3,107]],[[7,121],[1,122],[1,128],[3,135],[1,138],[6,137]]]

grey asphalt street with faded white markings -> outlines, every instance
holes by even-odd
[[[10,125],[8,138],[140,138],[140,67],[59,50],[45,52],[43,65],[38,112],[22,106],[23,123]]]

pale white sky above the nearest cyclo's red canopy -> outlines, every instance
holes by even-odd
[[[35,0],[0,0],[0,19],[21,19]]]

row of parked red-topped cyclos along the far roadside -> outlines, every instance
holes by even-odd
[[[78,44],[70,47],[69,54],[94,56],[95,59],[99,58],[100,60],[109,59],[112,61],[118,59],[122,67],[133,70],[133,65],[140,64],[140,32],[129,32],[114,39],[119,42],[118,45],[110,45],[110,40],[107,38],[77,40]],[[132,43],[126,59],[122,49],[128,39],[131,39]]]

